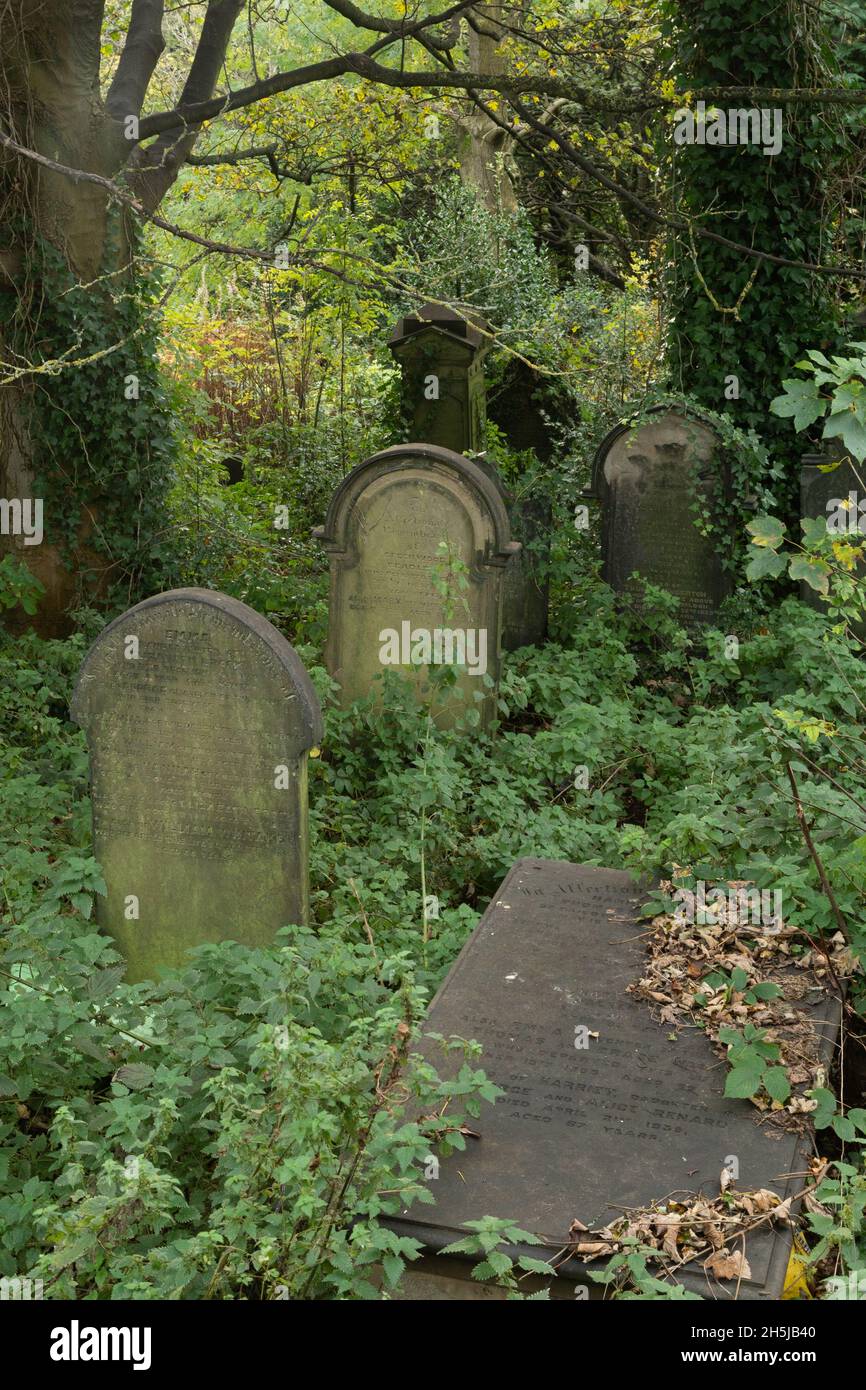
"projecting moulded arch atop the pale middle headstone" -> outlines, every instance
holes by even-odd
[[[331,505],[325,524],[313,531],[313,537],[332,550],[342,550],[348,543],[348,523],[352,506],[367,486],[388,474],[399,474],[406,468],[430,471],[431,478],[436,475],[457,481],[470,496],[481,502],[493,525],[493,555],[488,559],[502,560],[520,550],[520,542],[512,541],[509,516],[505,506],[502,484],[496,477],[491,477],[480,464],[466,459],[452,449],[442,449],[434,443],[398,443],[373,457],[359,463],[348,473],[339,484]]]

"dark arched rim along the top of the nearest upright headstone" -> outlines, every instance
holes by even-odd
[[[142,603],[136,603],[125,613],[121,613],[120,617],[103,628],[81,664],[78,681],[70,702],[70,713],[76,724],[86,728],[90,723],[97,680],[95,667],[111,639],[120,638],[122,641],[126,634],[135,632],[136,620],[145,619],[150,624],[154,620],[158,621],[163,616],[170,617],[172,609],[186,609],[193,613],[197,609],[206,621],[209,619],[224,619],[238,632],[250,634],[253,638],[250,660],[254,662],[256,645],[259,645],[267,669],[278,687],[281,687],[284,698],[296,702],[292,714],[297,727],[299,749],[314,748],[321,742],[324,727],[318,696],[303,662],[291,642],[261,613],[249,607],[247,603],[242,603],[240,599],[229,598],[227,594],[220,594],[215,589],[197,588],[167,589],[164,594],[154,594],[152,598],[143,599]],[[220,659],[217,653],[214,659],[214,678],[217,681],[218,674]]]

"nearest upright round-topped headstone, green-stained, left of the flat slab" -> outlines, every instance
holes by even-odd
[[[71,705],[90,753],[99,924],[129,981],[190,947],[306,923],[316,691],[286,639],[210,589],[138,603],[97,637]]]

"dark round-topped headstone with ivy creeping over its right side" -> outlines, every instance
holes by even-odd
[[[695,525],[692,485],[708,503],[720,467],[719,439],[701,420],[660,409],[602,441],[584,496],[602,503],[602,577],[639,594],[631,575],[680,599],[685,627],[712,623],[731,589],[713,542]],[[724,485],[724,484],[723,484]]]

